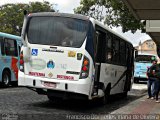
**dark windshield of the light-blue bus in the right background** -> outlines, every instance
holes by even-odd
[[[154,59],[155,56],[153,55],[138,55],[135,59],[136,62],[151,62],[152,59]]]

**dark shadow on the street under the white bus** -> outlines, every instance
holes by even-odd
[[[130,102],[144,96],[145,93],[139,95],[128,95],[127,98],[122,98],[120,95],[111,96],[110,103],[106,105],[100,105],[98,100],[94,101],[81,101],[81,100],[63,100],[58,102],[39,102],[34,103],[34,107],[42,107],[47,109],[65,110],[68,112],[74,112],[76,114],[108,114],[118,108],[126,106]]]

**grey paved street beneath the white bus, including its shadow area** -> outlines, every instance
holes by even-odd
[[[137,88],[137,86],[139,87]],[[109,104],[100,106],[97,104],[97,101],[65,100],[58,103],[51,103],[46,96],[38,95],[27,88],[1,88],[0,113],[2,114],[2,118],[11,117],[15,120],[72,119],[71,116],[77,114],[122,114],[124,112],[126,113],[126,109],[129,110],[129,107],[135,106],[136,103],[134,104],[134,101],[145,95],[146,84],[135,84],[127,98],[113,96]]]

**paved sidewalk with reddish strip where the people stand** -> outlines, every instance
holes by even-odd
[[[135,92],[142,97],[102,116],[100,120],[160,120],[160,103],[147,99],[147,85],[133,84],[130,94]]]

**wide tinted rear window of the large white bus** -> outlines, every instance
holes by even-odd
[[[88,21],[64,17],[31,17],[28,22],[27,37],[31,44],[63,47],[81,47]]]

